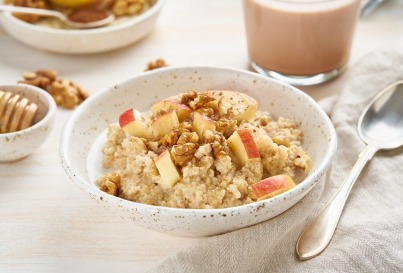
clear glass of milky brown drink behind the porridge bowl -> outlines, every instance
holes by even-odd
[[[243,0],[251,66],[293,85],[339,75],[353,41],[360,0]]]

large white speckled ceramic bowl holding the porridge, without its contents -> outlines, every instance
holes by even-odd
[[[290,191],[268,200],[203,210],[130,202],[100,191],[91,181],[86,167],[90,148],[110,123],[117,122],[124,109],[135,107],[145,111],[156,101],[181,92],[212,89],[245,92],[258,99],[260,110],[300,123],[305,134],[303,146],[313,160],[312,171],[306,179]],[[335,130],[328,116],[311,97],[295,87],[247,71],[181,67],[146,72],[90,97],[68,121],[61,139],[60,155],[68,176],[100,204],[144,228],[196,237],[250,226],[284,212],[324,180],[336,146]]]

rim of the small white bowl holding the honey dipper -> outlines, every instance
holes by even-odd
[[[25,83],[0,84],[0,90],[4,91],[3,88],[8,88],[10,90],[12,90],[13,88],[20,89],[20,90],[21,90],[21,88],[31,89],[35,93],[40,94],[42,96],[42,98],[45,99],[45,101],[48,104],[48,111],[46,112],[45,116],[42,119],[40,119],[37,123],[35,123],[34,125],[32,125],[28,128],[25,128],[23,130],[11,132],[11,133],[2,133],[2,134],[0,134],[0,136],[2,138],[27,134],[31,131],[36,130],[37,128],[42,127],[44,124],[46,124],[52,118],[52,116],[54,116],[56,109],[57,109],[56,102],[52,98],[52,96],[45,90],[43,90],[39,87],[36,87],[34,85],[25,84]]]

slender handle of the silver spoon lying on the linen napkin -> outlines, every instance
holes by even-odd
[[[296,245],[296,252],[300,260],[316,257],[329,244],[355,181],[376,151],[378,148],[367,146],[361,152],[339,190],[301,233]]]

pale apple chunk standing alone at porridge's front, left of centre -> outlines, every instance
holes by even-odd
[[[172,188],[181,179],[178,169],[172,161],[169,150],[165,150],[156,157],[154,162],[160,173],[161,182],[165,187]]]

